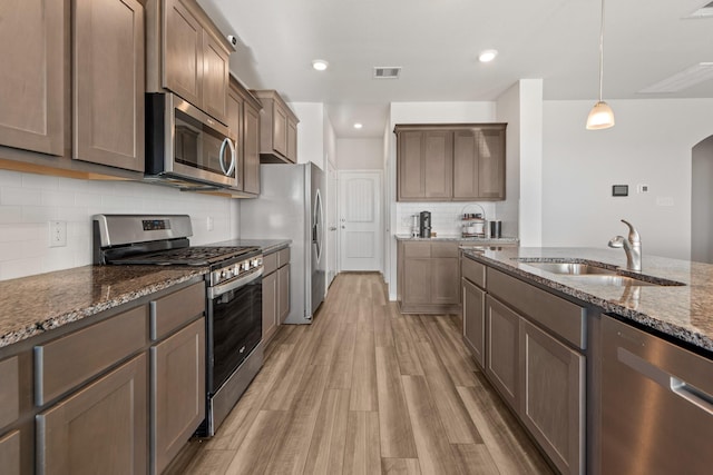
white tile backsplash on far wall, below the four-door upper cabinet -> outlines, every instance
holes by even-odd
[[[397,202],[398,235],[410,235],[412,216],[421,211],[431,212],[431,232],[439,236],[460,236],[463,212],[486,212],[486,219],[497,219],[492,202]]]

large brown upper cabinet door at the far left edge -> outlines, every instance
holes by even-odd
[[[55,0],[3,0],[0,13],[0,145],[65,155],[65,33]]]

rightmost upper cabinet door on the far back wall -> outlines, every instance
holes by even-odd
[[[478,132],[478,198],[505,199],[505,128]]]

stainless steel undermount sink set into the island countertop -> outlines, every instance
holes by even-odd
[[[583,259],[548,259],[548,258],[516,258],[520,264],[533,266],[550,274],[582,277],[583,281],[608,286],[683,286],[685,284],[646,276],[644,274],[626,273],[615,266]]]

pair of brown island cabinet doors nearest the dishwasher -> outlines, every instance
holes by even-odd
[[[489,295],[486,319],[488,379],[560,473],[584,473],[584,355]]]

